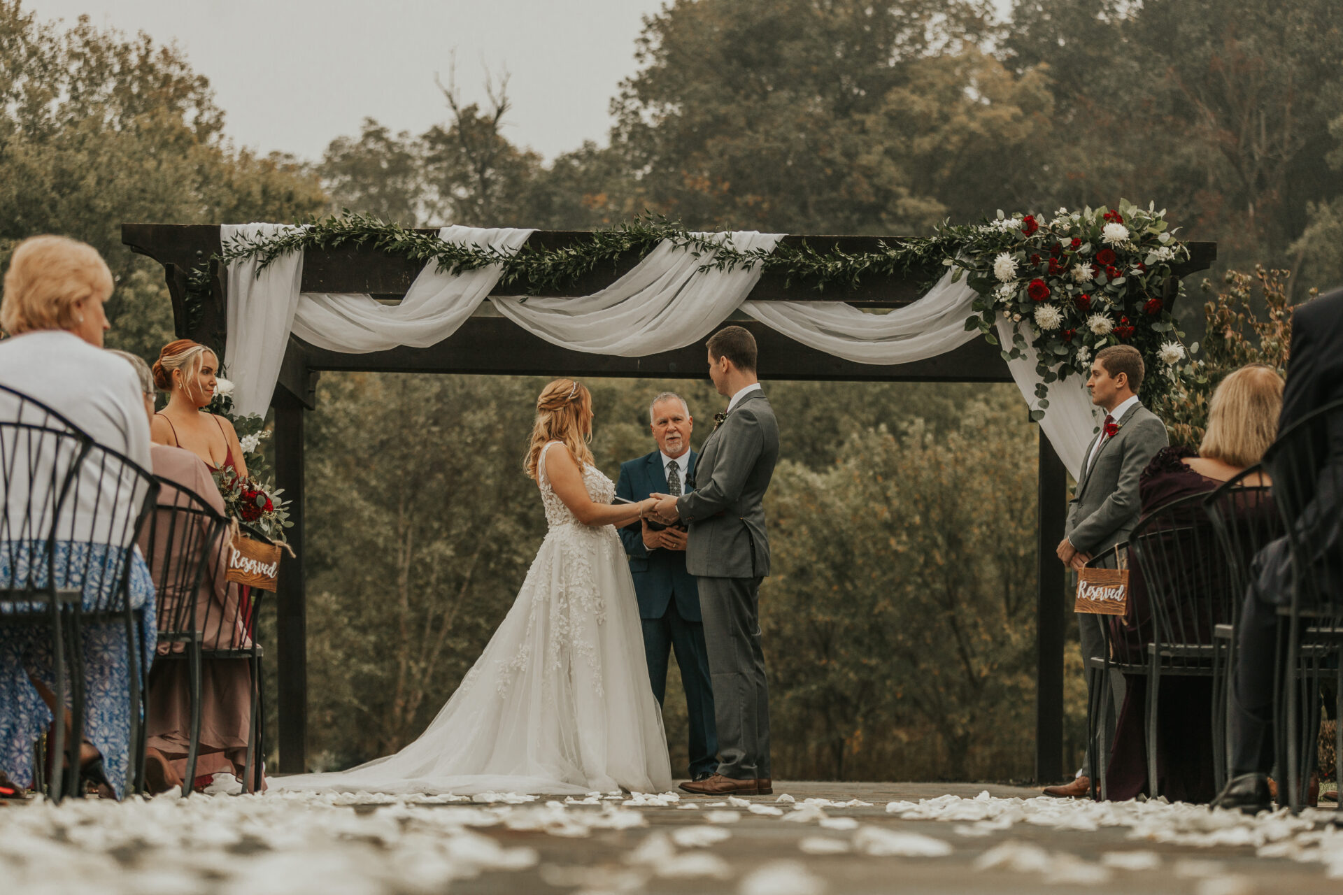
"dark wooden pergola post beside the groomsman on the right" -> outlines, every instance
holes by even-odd
[[[1064,604],[1065,573],[1058,561],[1068,515],[1068,470],[1039,431],[1039,484],[1035,554],[1035,781],[1064,774]]]

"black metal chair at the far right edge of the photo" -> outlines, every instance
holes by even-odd
[[[1305,802],[1316,768],[1320,684],[1332,678],[1334,715],[1343,713],[1343,401],[1299,420],[1264,455],[1292,561],[1275,688],[1277,766],[1292,810]],[[1285,631],[1281,631],[1285,628]],[[1335,750],[1343,725],[1335,725]],[[1343,782],[1343,768],[1336,780]]]

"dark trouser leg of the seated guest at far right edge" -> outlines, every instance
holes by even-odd
[[[1254,557],[1250,586],[1237,631],[1233,682],[1232,774],[1273,770],[1273,667],[1277,662],[1277,607],[1289,598],[1291,558],[1285,538]]]

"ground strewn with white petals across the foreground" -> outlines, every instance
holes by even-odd
[[[7,894],[1343,891],[1334,813],[933,784],[778,796],[175,794],[0,809]]]

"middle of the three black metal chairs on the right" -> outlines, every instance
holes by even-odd
[[[1236,631],[1250,582],[1250,566],[1264,546],[1283,534],[1283,517],[1262,466],[1229,479],[1203,502],[1222,561],[1226,562],[1232,615],[1213,628],[1213,774],[1217,789],[1230,773],[1230,682],[1236,666]]]

